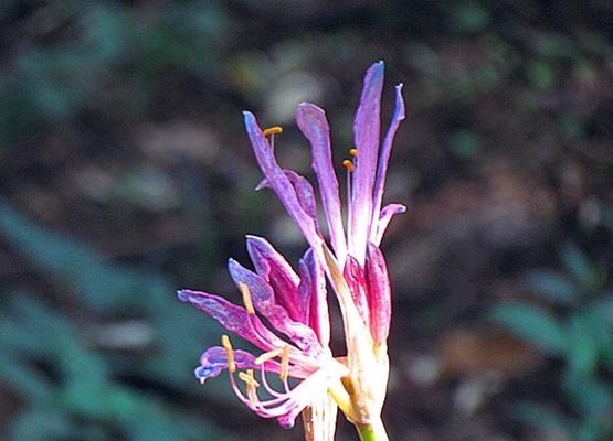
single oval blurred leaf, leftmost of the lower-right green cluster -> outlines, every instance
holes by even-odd
[[[499,304],[492,311],[492,319],[542,351],[560,354],[566,348],[563,326],[541,308],[524,303]]]

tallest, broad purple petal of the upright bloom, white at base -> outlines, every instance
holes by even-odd
[[[374,63],[367,72],[360,106],[353,121],[358,158],[353,172],[351,254],[363,263],[372,214],[372,187],[379,151],[381,90],[383,88],[383,62]]]

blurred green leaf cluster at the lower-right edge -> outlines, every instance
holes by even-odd
[[[574,245],[560,252],[566,272],[531,271],[530,291],[557,306],[499,304],[492,319],[514,335],[563,361],[564,395],[572,413],[535,402],[517,406],[517,416],[535,428],[551,429],[581,441],[613,437],[613,314],[606,279]],[[562,309],[561,309],[562,308]]]

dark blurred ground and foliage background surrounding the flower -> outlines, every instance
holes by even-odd
[[[241,110],[310,175],[296,105],[327,109],[340,164],[384,60],[410,207],[383,240],[391,439],[612,440],[612,22],[609,0],[3,0],[0,438],[300,440],[198,384],[222,331],[175,291],[237,301],[245,234],[305,248],[253,191]]]

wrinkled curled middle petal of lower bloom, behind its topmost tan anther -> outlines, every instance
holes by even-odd
[[[249,287],[255,310],[264,315],[276,330],[287,335],[306,354],[314,356],[320,354],[321,346],[315,332],[289,318],[285,308],[276,303],[273,289],[266,280],[233,259],[228,262],[228,268],[236,284],[242,282]]]

